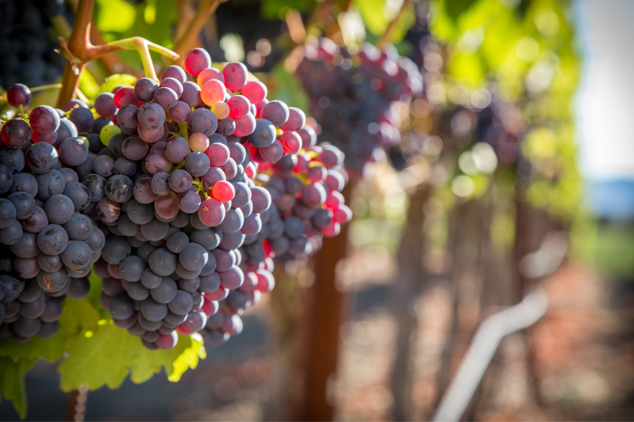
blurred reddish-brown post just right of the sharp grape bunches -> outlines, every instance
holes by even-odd
[[[349,203],[354,183],[342,191]],[[336,267],[347,255],[349,224],[339,236],[324,238],[323,247],[313,257],[315,282],[307,295],[311,312],[306,324],[302,378],[304,395],[291,415],[297,421],[331,421],[334,406],[328,399],[328,385],[335,381],[339,357],[340,331],[347,310],[348,295],[337,289]]]

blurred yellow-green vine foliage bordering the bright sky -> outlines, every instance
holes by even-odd
[[[494,86],[491,94],[514,103],[525,120],[520,148],[530,166],[523,172],[518,164],[516,171],[528,181],[526,198],[561,219],[576,215],[581,191],[571,110],[580,60],[570,6],[556,0],[430,4],[430,32],[445,44],[446,57],[445,75],[428,85],[428,96],[473,109],[473,94]],[[481,184],[478,174],[467,177]]]

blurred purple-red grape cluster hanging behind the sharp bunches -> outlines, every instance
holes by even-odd
[[[361,174],[378,150],[400,141],[400,122],[391,108],[422,93],[421,72],[393,46],[380,51],[365,44],[357,53],[322,38],[304,51],[296,75],[311,99],[321,140],[339,147],[347,170]]]

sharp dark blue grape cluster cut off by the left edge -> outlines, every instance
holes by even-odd
[[[7,99],[28,106],[30,91],[14,85]],[[104,245],[97,222],[80,212],[89,204],[87,187],[73,168],[62,167],[87,158],[84,141],[75,132],[58,148],[35,142],[56,139],[63,114],[39,106],[1,128],[0,338],[55,335],[63,299],[85,298],[90,264]]]

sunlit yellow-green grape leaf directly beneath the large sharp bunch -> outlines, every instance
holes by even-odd
[[[58,366],[63,391],[86,384],[90,390],[103,385],[118,388],[130,373],[134,383],[143,383],[164,369],[170,381],[195,368],[204,357],[199,340],[180,335],[172,350],[147,350],[141,340],[109,321],[90,337],[77,337],[68,347],[68,358]],[[196,356],[194,358],[194,355]]]

